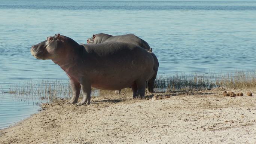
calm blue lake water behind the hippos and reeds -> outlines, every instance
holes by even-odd
[[[67,79],[30,47],[60,33],[133,33],[149,43],[159,74],[256,69],[256,1],[0,1],[0,129],[39,110],[33,95],[6,94],[22,80]]]

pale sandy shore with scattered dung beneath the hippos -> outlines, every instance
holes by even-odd
[[[43,104],[39,113],[0,130],[0,144],[256,143],[256,96],[224,97],[216,90],[154,95]]]

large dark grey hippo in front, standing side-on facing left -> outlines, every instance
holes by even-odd
[[[73,96],[67,104],[90,104],[91,86],[118,90],[131,86],[133,97],[144,98],[146,81],[152,77],[154,59],[150,52],[128,43],[109,42],[79,45],[69,37],[57,34],[34,45],[31,54],[37,59],[52,59],[70,79]],[[146,74],[147,73],[147,74]]]

